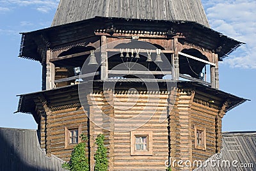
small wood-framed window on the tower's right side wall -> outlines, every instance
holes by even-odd
[[[195,149],[206,150],[206,130],[195,126]]]

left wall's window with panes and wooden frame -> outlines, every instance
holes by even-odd
[[[81,125],[73,127],[65,127],[65,149],[72,149],[81,142]]]

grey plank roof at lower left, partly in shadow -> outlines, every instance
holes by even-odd
[[[64,170],[64,161],[40,148],[36,130],[0,128],[0,156],[0,170]]]

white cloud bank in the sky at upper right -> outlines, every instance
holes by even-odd
[[[246,43],[230,54],[224,64],[256,69],[256,1],[209,0],[203,3],[212,29]]]

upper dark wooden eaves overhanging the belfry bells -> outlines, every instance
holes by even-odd
[[[40,49],[45,47],[51,49],[58,48],[70,42],[84,42],[86,38],[95,36],[95,32],[112,27],[115,28],[116,33],[119,33],[118,31],[129,31],[131,34],[136,34],[138,31],[142,31],[142,33],[163,34],[166,37],[168,37],[170,30],[172,30],[175,35],[184,35],[185,41],[217,51],[216,53],[220,60],[243,44],[196,22],[95,17],[71,24],[22,33],[19,56],[42,61],[42,56],[38,54]],[[218,51],[218,47],[222,48]]]

